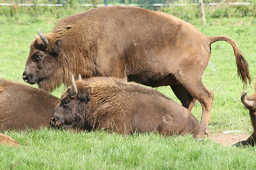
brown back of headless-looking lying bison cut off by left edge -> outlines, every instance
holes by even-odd
[[[44,90],[0,79],[0,131],[49,126],[59,102]]]

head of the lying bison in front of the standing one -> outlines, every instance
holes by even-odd
[[[71,88],[65,90],[61,95],[60,103],[55,107],[53,124],[64,129],[88,129],[86,128],[86,113],[89,100],[90,88],[77,90],[74,76],[72,76]]]

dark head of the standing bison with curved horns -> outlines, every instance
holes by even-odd
[[[64,71],[59,66],[60,61],[58,58],[63,41],[57,39],[51,33],[44,36],[41,30],[38,30],[40,38],[35,35],[36,39],[31,44],[30,54],[22,78],[26,83],[37,83],[39,88],[52,91],[52,87],[61,84],[57,75],[61,75]],[[59,82],[53,81],[54,79],[59,80]]]

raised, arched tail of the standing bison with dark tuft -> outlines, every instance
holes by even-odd
[[[209,45],[216,41],[226,41],[226,42],[229,42],[230,45],[232,45],[234,49],[234,54],[236,56],[238,76],[240,76],[243,82],[243,87],[247,87],[248,83],[251,84],[251,75],[249,73],[249,65],[245,57],[243,57],[241,50],[238,49],[236,42],[228,36],[209,37]]]

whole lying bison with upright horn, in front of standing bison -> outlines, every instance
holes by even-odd
[[[53,124],[64,129],[131,134],[158,131],[163,135],[196,137],[199,120],[160,92],[125,79],[96,77],[67,88],[55,108]]]

